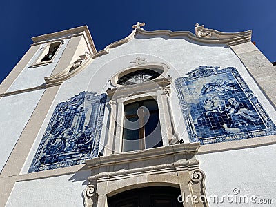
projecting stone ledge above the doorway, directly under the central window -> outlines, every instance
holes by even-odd
[[[153,158],[166,157],[166,155],[181,154],[195,155],[199,150],[199,142],[188,144],[175,144],[159,148],[151,148],[134,152],[124,152],[115,155],[95,157],[86,160],[88,168],[99,168],[100,166],[112,166],[115,164],[128,163],[133,161],[149,160]]]

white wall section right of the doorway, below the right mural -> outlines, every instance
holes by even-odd
[[[236,194],[237,203],[235,197],[233,203],[225,198],[224,202],[217,204],[211,199],[209,206],[275,206],[276,157],[273,156],[275,150],[276,145],[271,145],[197,155],[199,166],[206,175],[207,197],[217,196],[219,201],[222,201],[222,197],[227,194],[235,196],[234,188],[239,189],[239,193]],[[239,203],[241,196],[248,196],[248,204]],[[255,204],[250,201],[250,197],[257,202],[259,199],[273,199],[274,203]]]

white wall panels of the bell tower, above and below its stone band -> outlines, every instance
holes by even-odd
[[[52,63],[46,66],[29,68],[37,57],[41,55],[43,47],[46,46],[46,43],[42,44],[34,57],[30,59],[27,66],[22,70],[21,74],[14,80],[7,92],[41,86],[45,83],[44,77],[51,75],[63,53],[63,50],[66,48],[68,41],[69,39],[65,39],[64,43],[61,44],[61,48],[58,50]],[[0,172],[3,170],[3,166],[6,164],[21,132],[28,123],[34,108],[37,106],[37,103],[39,103],[43,92],[44,90],[37,90],[18,95],[10,95],[0,99]]]

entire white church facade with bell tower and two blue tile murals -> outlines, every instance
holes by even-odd
[[[0,206],[273,206],[276,70],[251,31],[33,37],[0,86]]]

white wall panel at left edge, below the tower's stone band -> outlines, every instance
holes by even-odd
[[[36,90],[0,99],[0,172],[43,92],[44,90]]]

